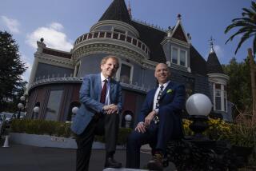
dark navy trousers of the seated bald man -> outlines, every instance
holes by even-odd
[[[166,144],[170,139],[182,137],[181,118],[174,113],[159,113],[158,125],[151,122],[146,133],[134,131],[128,137],[126,145],[126,168],[138,169],[140,167],[140,148],[149,144],[154,150],[161,150],[166,153]]]

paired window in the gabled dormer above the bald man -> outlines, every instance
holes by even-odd
[[[176,46],[171,49],[171,62],[178,66],[187,66],[187,52]]]

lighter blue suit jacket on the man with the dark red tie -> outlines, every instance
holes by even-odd
[[[91,74],[83,78],[79,91],[81,106],[71,125],[74,133],[81,134],[94,117],[94,113],[102,112],[104,104],[100,102],[101,93],[101,74]],[[110,80],[110,103],[118,105],[119,113],[122,111],[122,87],[114,79]]]

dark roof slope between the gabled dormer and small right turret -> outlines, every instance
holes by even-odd
[[[198,50],[196,50],[194,46],[190,46],[190,68],[191,72],[194,74],[204,76],[207,74],[206,60],[202,58],[201,54],[198,53]]]

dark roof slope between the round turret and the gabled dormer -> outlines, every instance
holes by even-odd
[[[166,37],[166,32],[145,26],[138,22],[131,22],[139,33],[139,39],[150,48],[150,60],[154,62],[166,62],[161,42]]]

